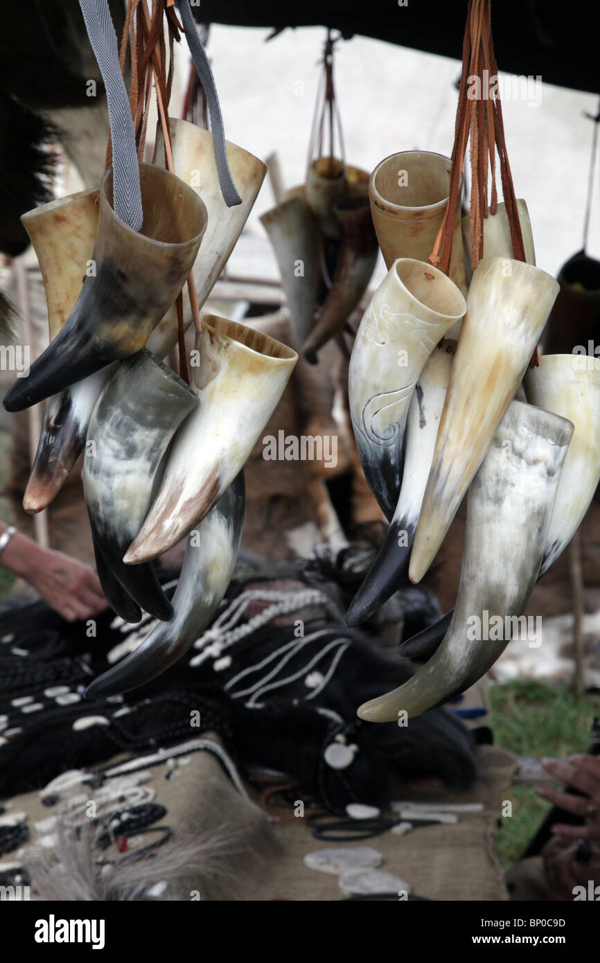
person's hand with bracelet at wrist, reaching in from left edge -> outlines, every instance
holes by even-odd
[[[2,553],[2,565],[25,579],[44,602],[68,622],[91,618],[108,608],[98,577],[82,561],[40,548],[15,534]]]

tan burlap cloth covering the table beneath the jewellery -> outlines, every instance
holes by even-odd
[[[213,735],[207,736],[216,739]],[[222,763],[208,752],[180,757],[175,766],[152,767],[152,781],[143,785],[155,791],[154,802],[167,808],[163,820],[172,839],[155,850],[156,881],[161,878],[161,853],[179,846],[181,872],[163,898],[189,900],[336,900],[343,898],[336,875],[307,869],[306,853],[337,846],[371,846],[383,856],[381,870],[405,879],[419,896],[443,900],[507,899],[503,871],[494,853],[494,842],[501,817],[502,801],[507,796],[514,757],[496,746],[478,750],[480,775],[471,790],[443,796],[445,802],[483,802],[482,813],[459,815],[455,825],[425,826],[404,837],[385,832],[356,843],[331,843],[315,839],[302,818],[273,821],[235,788]],[[117,757],[109,765],[116,765]],[[81,793],[81,788],[74,792]],[[84,790],[93,798],[93,790]],[[404,787],[397,798],[421,798]],[[440,795],[430,795],[440,801]],[[5,802],[6,805],[6,802]],[[38,792],[9,800],[7,815],[24,812],[31,842],[39,842],[35,823],[53,815],[53,808],[42,805]],[[143,835],[143,834],[142,834]],[[156,837],[147,834],[140,843]],[[218,872],[192,870],[186,856],[191,842],[221,840]],[[19,853],[10,853],[0,864],[18,863]],[[116,858],[111,847],[103,858]],[[23,860],[27,865],[27,860]],[[196,864],[197,865],[197,864]],[[213,864],[214,865],[214,864]],[[32,888],[36,879],[33,873]],[[47,897],[46,897],[47,898]]]

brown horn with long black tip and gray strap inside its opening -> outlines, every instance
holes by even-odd
[[[20,411],[140,351],[179,294],[206,227],[196,193],[167,170],[140,165],[143,228],[113,210],[113,169],[100,182],[98,230],[79,298],[54,341],[4,400]]]

